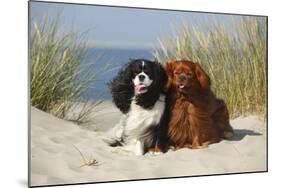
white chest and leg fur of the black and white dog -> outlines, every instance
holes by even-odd
[[[144,140],[153,139],[149,134],[151,126],[159,125],[165,110],[165,96],[161,95],[153,108],[144,109],[133,100],[130,111],[124,115],[119,123],[110,131],[113,139],[124,139],[123,149],[132,151],[136,155],[144,154]]]

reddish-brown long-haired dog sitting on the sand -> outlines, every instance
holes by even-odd
[[[168,75],[168,138],[175,149],[202,148],[233,136],[223,100],[210,89],[210,78],[198,63],[165,63]]]

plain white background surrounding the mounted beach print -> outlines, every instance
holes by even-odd
[[[61,1],[57,1],[61,2]],[[194,10],[269,16],[269,172],[68,187],[267,187],[278,181],[280,167],[280,15],[275,0],[64,0],[63,2]],[[27,186],[27,0],[1,2],[1,187]],[[278,163],[278,164],[277,164]]]

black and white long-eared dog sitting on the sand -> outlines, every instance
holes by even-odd
[[[163,88],[167,75],[160,63],[145,59],[131,60],[109,83],[113,102],[123,113],[110,130],[111,146],[143,155],[159,143],[167,124]],[[161,147],[161,146],[157,146]]]

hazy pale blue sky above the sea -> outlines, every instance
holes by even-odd
[[[181,31],[183,23],[198,26],[202,30],[222,24],[232,29],[232,19],[243,16],[116,8],[62,3],[30,3],[32,22],[42,17],[51,18],[61,14],[60,26],[64,31],[88,32],[89,45],[115,48],[157,48],[159,39]],[[31,26],[33,23],[31,22]]]

